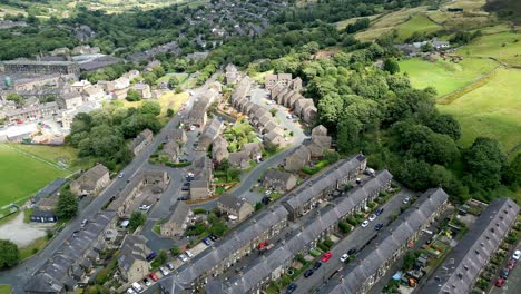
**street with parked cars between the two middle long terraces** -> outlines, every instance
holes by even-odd
[[[374,226],[377,223],[389,225],[391,223],[391,215],[400,213],[400,207],[403,205],[403,198],[415,194],[411,190],[402,189],[401,193],[381,206],[384,208],[384,212],[375,220],[371,222],[367,227],[356,227],[347,237],[335,244],[331,249],[333,257],[328,262],[323,263],[317,272],[308,278],[301,276],[295,281],[298,285],[296,293],[321,293],[322,287],[327,283],[328,278],[335,273],[335,271],[343,267],[344,264],[341,263],[340,257],[351,248],[361,251],[377,235],[377,231],[374,231]]]

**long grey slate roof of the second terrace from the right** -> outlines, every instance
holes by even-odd
[[[442,188],[425,192],[396,220],[371,242],[370,246],[356,255],[356,263],[351,263],[340,274],[342,282],[332,281],[327,293],[358,293],[367,278],[413,236],[420,227],[449,199]]]

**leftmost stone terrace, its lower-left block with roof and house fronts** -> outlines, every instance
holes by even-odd
[[[205,284],[220,275],[245,255],[255,251],[265,239],[277,235],[287,225],[287,210],[283,206],[275,206],[265,210],[225,239],[214,243],[197,255],[190,263],[178,268],[177,274],[161,280],[163,293],[181,293],[184,291],[203,291]]]

